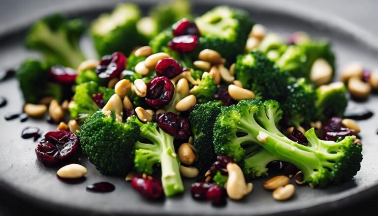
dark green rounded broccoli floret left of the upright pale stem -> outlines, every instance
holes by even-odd
[[[133,168],[134,144],[139,134],[136,123],[118,123],[114,111],[109,116],[97,111],[81,126],[79,137],[83,152],[98,171],[126,175]]]

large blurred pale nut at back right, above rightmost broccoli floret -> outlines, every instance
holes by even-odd
[[[324,59],[317,59],[310,71],[310,80],[317,86],[329,83],[332,78],[332,67]]]

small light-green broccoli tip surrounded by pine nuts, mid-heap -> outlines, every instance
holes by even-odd
[[[197,103],[206,103],[213,98],[216,90],[217,85],[215,85],[213,78],[205,76],[197,87],[190,90],[190,93],[196,97]]]

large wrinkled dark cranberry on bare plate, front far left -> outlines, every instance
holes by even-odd
[[[68,130],[50,131],[35,148],[37,158],[45,166],[53,166],[72,156],[79,146],[77,136]]]

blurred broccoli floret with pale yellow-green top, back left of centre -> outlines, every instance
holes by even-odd
[[[91,27],[98,55],[114,52],[128,55],[135,46],[147,44],[146,38],[136,29],[139,19],[139,8],[132,3],[120,3],[111,14],[100,15]]]

